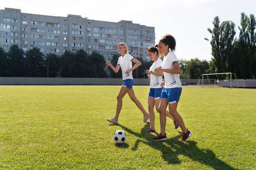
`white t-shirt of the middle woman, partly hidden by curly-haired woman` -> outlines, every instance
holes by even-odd
[[[155,68],[161,68],[163,61],[158,58],[150,67],[149,71],[154,72]],[[154,74],[150,74],[150,88],[161,88],[160,83],[163,81],[162,76],[156,76]]]

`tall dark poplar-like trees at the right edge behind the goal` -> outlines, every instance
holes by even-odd
[[[253,14],[241,13],[239,37],[235,37],[235,24],[232,21],[220,23],[216,16],[211,33],[212,61],[215,73],[233,72],[237,78],[256,78],[256,20]],[[207,41],[209,39],[205,38]],[[223,78],[223,77],[222,77]],[[225,76],[224,76],[225,78]]]

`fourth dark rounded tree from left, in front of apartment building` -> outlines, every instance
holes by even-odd
[[[45,65],[47,67],[48,77],[56,77],[60,71],[61,59],[56,54],[46,54]]]

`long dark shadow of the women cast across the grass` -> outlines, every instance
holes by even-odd
[[[151,133],[144,132],[149,127],[148,122],[141,129],[141,133],[136,133],[125,126],[122,126],[121,124],[117,124],[117,126],[120,126],[124,129],[124,131],[130,133],[131,135],[142,138],[137,139],[132,150],[137,150],[139,144],[142,142],[154,149],[160,150],[162,152],[162,158],[170,165],[181,163],[178,156],[184,155],[193,161],[198,161],[204,165],[211,166],[213,169],[235,170],[227,163],[218,159],[212,150],[198,148],[198,146],[196,146],[197,142],[193,141],[193,139],[190,139],[188,142],[180,142],[180,135],[177,135],[173,138],[168,138],[166,141],[153,141],[152,137],[154,137],[155,134],[153,135]],[[156,155],[156,157],[158,157],[158,155]]]

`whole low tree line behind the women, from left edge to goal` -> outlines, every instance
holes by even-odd
[[[120,54],[112,56],[111,63],[117,64]],[[147,78],[145,71],[150,68],[153,61],[146,62],[137,57],[142,65],[132,72],[134,78]],[[215,70],[213,62],[199,59],[180,60],[182,77],[200,79],[202,73]],[[108,70],[107,70],[108,69]],[[23,51],[14,44],[8,52],[0,48],[0,77],[73,77],[73,78],[105,78],[110,72],[112,78],[122,78],[121,70],[113,72],[103,55],[92,52],[88,54],[83,49],[76,53],[65,51],[60,57],[49,53],[43,56],[38,48]]]

